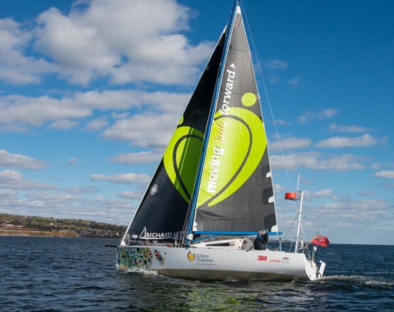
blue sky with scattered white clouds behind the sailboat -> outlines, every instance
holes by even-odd
[[[280,230],[300,174],[307,239],[394,244],[394,2],[242,5]],[[0,211],[129,224],[231,6],[0,1]]]

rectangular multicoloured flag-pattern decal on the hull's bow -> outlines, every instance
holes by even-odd
[[[117,253],[120,269],[150,269],[152,267],[153,254],[150,248],[118,247]]]

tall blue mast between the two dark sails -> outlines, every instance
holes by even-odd
[[[208,122],[207,122],[204,141],[203,141],[203,145],[202,145],[202,153],[201,153],[200,161],[199,161],[199,165],[198,165],[197,178],[196,178],[195,187],[193,190],[192,201],[190,204],[190,214],[189,214],[190,219],[187,224],[186,231],[185,231],[185,235],[186,235],[185,243],[187,243],[187,244],[193,240],[193,236],[191,236],[190,234],[193,230],[193,220],[194,220],[194,214],[195,214],[196,205],[197,205],[198,185],[200,184],[200,181],[201,181],[202,169],[203,169],[203,165],[204,165],[204,161],[205,161],[205,155],[206,155],[207,145],[208,145],[208,141],[209,141],[209,135],[210,135],[210,131],[211,131],[211,124],[212,124],[213,117],[215,114],[216,102],[218,101],[218,97],[219,97],[219,89],[220,89],[220,84],[221,84],[222,77],[223,77],[227,53],[229,51],[232,26],[234,24],[234,17],[235,17],[235,12],[236,12],[237,6],[238,6],[238,0],[234,0],[234,3],[232,5],[232,9],[231,9],[229,27],[227,28],[225,47],[224,47],[222,59],[220,62],[219,76],[218,76],[218,79],[216,80],[215,92],[214,92],[214,95],[212,98],[211,109],[209,111]]]

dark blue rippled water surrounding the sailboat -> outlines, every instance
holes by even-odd
[[[199,282],[119,273],[105,242],[0,237],[0,311],[394,311],[394,246],[319,248],[314,282]]]

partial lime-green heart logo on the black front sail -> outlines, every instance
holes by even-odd
[[[197,129],[178,127],[163,156],[168,177],[187,203],[193,192],[203,138]]]

